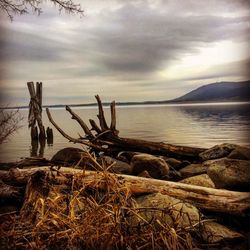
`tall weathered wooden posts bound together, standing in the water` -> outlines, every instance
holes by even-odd
[[[27,82],[30,93],[29,103],[29,128],[31,128],[31,140],[44,141],[46,139],[45,129],[42,122],[42,82],[36,83],[36,89],[33,82]],[[39,128],[36,126],[36,123]]]

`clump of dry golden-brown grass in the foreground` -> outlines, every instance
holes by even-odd
[[[192,227],[184,230],[178,227],[178,222],[170,227],[157,218],[154,222],[145,221],[122,180],[109,175],[106,167],[99,167],[103,168],[102,183],[94,179],[86,182],[81,176],[63,177],[63,181],[46,176],[42,187],[41,183],[39,188],[31,184],[28,189],[32,192],[27,194],[18,219],[5,232],[2,248],[175,250],[195,247],[190,235]],[[131,226],[133,218],[141,223]]]

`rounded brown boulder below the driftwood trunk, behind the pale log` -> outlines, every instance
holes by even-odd
[[[135,155],[131,160],[131,165],[133,175],[139,175],[146,170],[155,179],[165,179],[169,174],[168,164],[162,158],[149,154]]]

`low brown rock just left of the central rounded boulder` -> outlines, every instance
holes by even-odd
[[[109,156],[100,157],[98,159],[98,162],[101,165],[104,164],[106,167],[109,167],[112,165],[112,167],[109,168],[109,171],[116,173],[116,174],[131,174],[132,173],[131,165],[129,165],[126,162],[116,160]]]

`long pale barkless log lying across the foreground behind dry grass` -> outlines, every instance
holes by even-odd
[[[57,172],[51,172],[51,167],[20,169],[12,172],[0,171],[0,179],[5,183],[25,184],[28,182],[29,177],[37,171],[46,171],[48,174],[54,173],[54,178],[80,176],[83,181],[88,183],[91,183],[91,180],[93,180],[93,183],[97,183],[96,180],[98,180],[98,188],[106,187],[102,172],[82,171],[71,168],[61,168]],[[250,214],[249,192],[227,191],[128,175],[113,175],[110,173],[109,175],[114,178],[117,177],[134,195],[160,192],[208,211],[239,216]]]

